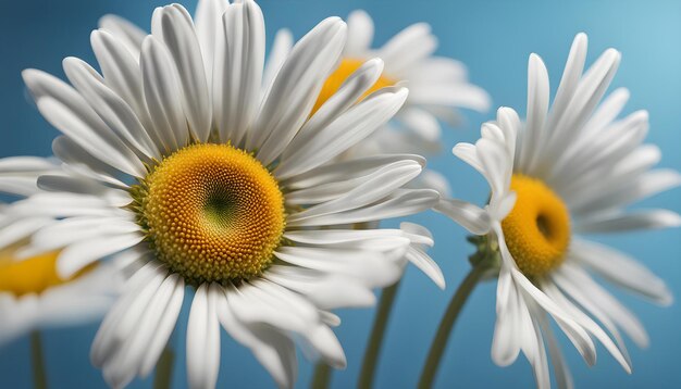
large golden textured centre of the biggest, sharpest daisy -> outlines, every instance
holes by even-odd
[[[270,172],[228,145],[194,145],[164,159],[134,195],[157,258],[194,285],[248,279],[272,262],[285,226]]]

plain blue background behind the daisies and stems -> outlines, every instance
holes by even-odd
[[[186,1],[193,11],[195,1]],[[62,75],[61,59],[76,55],[94,62],[89,32],[106,13],[123,15],[148,28],[154,7],[163,1],[114,0],[24,0],[0,1],[0,156],[50,153],[57,131],[25,98],[20,72],[37,67]],[[648,141],[664,153],[663,166],[681,167],[681,3],[678,1],[320,1],[263,0],[268,42],[281,27],[299,38],[329,15],[346,16],[351,10],[369,11],[376,24],[375,42],[407,25],[425,21],[439,37],[438,54],[463,61],[473,83],[493,97],[493,105],[509,105],[521,114],[525,108],[527,59],[531,52],[545,61],[555,92],[573,36],[590,37],[587,61],[615,47],[622,63],[614,86],[627,86],[631,100],[627,111],[647,109],[651,113]],[[467,113],[467,124],[446,129],[444,150],[458,141],[478,137],[480,124],[493,116]],[[486,199],[487,187],[471,168],[448,152],[429,161],[444,172],[455,195]],[[681,211],[679,190],[646,200],[642,205]],[[426,350],[439,317],[465,273],[470,247],[463,230],[441,215],[420,215],[436,238],[432,251],[441,264],[447,289],[442,292],[425,276],[410,268],[397,298],[381,360],[376,387],[409,388],[417,382]],[[681,293],[681,233],[679,229],[599,238],[626,250],[661,275],[676,296]],[[605,259],[607,261],[607,259]],[[493,283],[480,286],[466,306],[451,337],[437,387],[491,388],[532,387],[528,363],[520,359],[500,368],[490,359],[494,326]],[[640,315],[651,335],[651,347],[639,350],[629,342],[634,374],[627,375],[605,350],[598,348],[598,363],[589,368],[566,339],[564,350],[578,387],[672,388],[681,387],[678,350],[681,304],[661,309],[627,293],[616,296]],[[188,299],[187,299],[188,300]],[[178,357],[174,382],[185,387],[184,330],[187,306],[177,326],[174,343]],[[348,357],[348,368],[334,374],[336,388],[354,387],[373,310],[343,311],[337,335]],[[47,330],[46,349],[50,384],[54,388],[98,388],[104,384],[100,372],[88,362],[89,343],[97,326]],[[223,332],[224,334],[224,332]],[[308,387],[312,367],[302,360],[298,387]],[[0,388],[30,387],[27,339],[0,350]],[[137,380],[133,387],[150,387]],[[273,381],[256,360],[223,336],[219,387],[267,388]]]

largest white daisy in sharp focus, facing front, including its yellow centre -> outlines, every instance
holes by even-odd
[[[62,250],[64,277],[112,254],[144,263],[94,341],[111,386],[150,373],[187,287],[190,387],[216,382],[220,326],[290,387],[294,339],[345,366],[331,310],[372,304],[372,288],[395,283],[407,261],[442,276],[420,226],[348,227],[421,212],[438,193],[406,187],[423,168],[418,155],[334,161],[407,99],[391,87],[356,103],[382,74],[370,60],[311,115],[343,52],[343,21],[300,39],[265,92],[264,22],[252,1],[202,1],[196,25],[181,5],[159,8],[144,37],[110,22],[91,35],[101,74],[75,58],[63,62],[73,86],[23,74],[63,134],[53,152],[67,175],[40,176],[46,193],[16,212],[57,218],[30,250]]]

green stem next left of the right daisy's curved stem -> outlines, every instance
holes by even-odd
[[[381,302],[379,303],[376,318],[373,322],[369,344],[367,344],[367,350],[364,351],[362,369],[359,374],[359,381],[357,382],[357,387],[359,389],[369,389],[373,385],[373,377],[376,372],[376,364],[379,362],[379,354],[381,353],[381,344],[383,343],[385,327],[387,326],[387,321],[391,317],[391,311],[393,310],[398,288],[399,281],[383,289],[383,293],[381,293]]]

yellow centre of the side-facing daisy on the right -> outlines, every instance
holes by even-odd
[[[508,250],[520,271],[540,277],[558,266],[570,242],[570,216],[562,200],[544,183],[515,174],[511,189],[518,196],[502,222]]]

